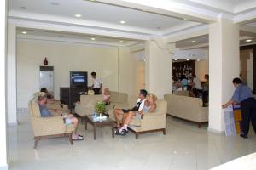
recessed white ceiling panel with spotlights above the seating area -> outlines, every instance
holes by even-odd
[[[55,3],[52,5],[51,3]],[[26,9],[21,9],[26,7]],[[144,34],[166,34],[198,23],[181,20],[161,14],[152,14],[142,10],[123,8],[109,4],[84,0],[9,0],[9,14],[47,14],[54,17],[76,20],[81,25],[96,26],[108,29],[140,32]],[[81,14],[77,19],[74,14]],[[125,20],[122,25],[119,21]],[[62,21],[62,20],[61,20]]]

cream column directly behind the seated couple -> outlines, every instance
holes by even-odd
[[[172,47],[163,40],[151,40],[145,46],[145,87],[160,99],[172,93]]]

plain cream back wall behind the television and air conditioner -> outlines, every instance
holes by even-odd
[[[69,87],[69,71],[96,71],[103,88],[133,94],[133,58],[129,48],[63,42],[17,41],[17,108],[26,108],[39,90],[39,66],[47,57],[55,69],[55,99]]]

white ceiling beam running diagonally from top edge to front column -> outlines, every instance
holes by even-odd
[[[169,0],[158,0],[157,3],[148,0],[96,0],[96,3],[134,8],[148,13],[163,14],[200,23],[212,23],[218,20],[218,13]]]

